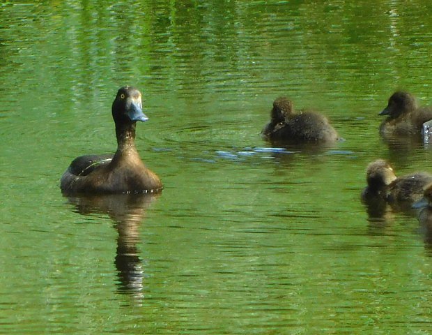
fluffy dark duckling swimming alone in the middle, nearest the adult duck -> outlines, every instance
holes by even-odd
[[[261,132],[266,140],[328,143],[338,138],[326,117],[315,112],[295,113],[292,101],[285,97],[273,102],[270,117],[270,122]]]

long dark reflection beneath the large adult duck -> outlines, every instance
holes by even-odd
[[[137,245],[146,209],[160,194],[81,195],[68,197],[79,214],[108,214],[118,232],[116,265],[118,290],[141,299],[144,269]]]

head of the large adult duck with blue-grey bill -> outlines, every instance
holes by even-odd
[[[111,112],[116,124],[130,124],[148,120],[142,111],[141,92],[130,86],[118,89]]]

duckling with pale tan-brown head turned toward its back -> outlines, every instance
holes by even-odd
[[[422,198],[424,186],[432,182],[432,174],[415,172],[396,177],[392,167],[383,159],[370,163],[366,171],[367,187],[362,200],[371,207],[391,204],[396,209],[409,209]]]

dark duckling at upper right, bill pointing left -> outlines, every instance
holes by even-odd
[[[379,115],[388,115],[380,124],[380,135],[420,135],[423,124],[432,119],[430,107],[418,107],[412,94],[396,91],[390,96],[387,107]]]

